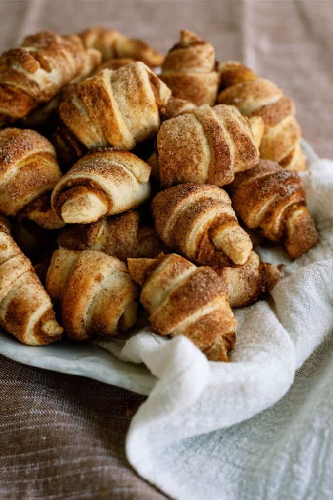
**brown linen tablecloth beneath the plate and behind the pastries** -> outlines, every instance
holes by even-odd
[[[333,157],[331,1],[2,1],[0,49],[24,34],[105,23],[166,51],[181,28],[243,60],[293,97],[304,136]],[[0,356],[0,499],[166,498],[126,462],[131,408],[144,398]],[[126,411],[127,409],[127,411]]]

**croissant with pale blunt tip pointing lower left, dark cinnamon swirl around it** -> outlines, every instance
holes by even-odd
[[[128,151],[96,149],[59,180],[51,205],[65,222],[94,222],[148,199],[149,175],[148,163]]]

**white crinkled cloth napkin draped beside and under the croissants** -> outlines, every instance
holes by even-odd
[[[172,498],[333,497],[333,162],[315,159],[303,179],[320,243],[294,262],[282,248],[257,248],[285,267],[268,299],[236,311],[230,363],[149,329],[121,350],[99,343],[158,378],[126,452]]]

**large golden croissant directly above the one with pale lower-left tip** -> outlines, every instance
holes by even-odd
[[[96,147],[133,149],[156,135],[170,93],[143,62],[97,71],[60,104],[62,124],[52,139],[57,153],[68,160]]]

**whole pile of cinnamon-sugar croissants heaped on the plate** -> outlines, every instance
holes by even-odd
[[[145,309],[227,361],[233,308],[280,277],[253,244],[318,241],[300,141],[293,101],[191,31],[165,57],[103,27],[27,36],[0,56],[0,325],[43,345]]]

